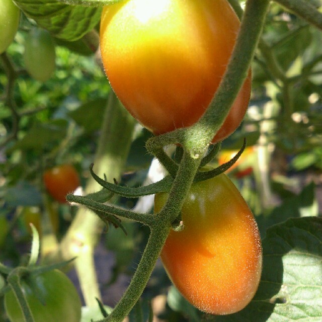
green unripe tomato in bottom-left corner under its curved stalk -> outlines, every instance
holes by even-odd
[[[69,278],[58,270],[45,272],[35,277],[34,283],[21,282],[35,322],[79,322],[81,300]],[[45,303],[36,296],[35,287]],[[11,322],[24,322],[21,308],[12,290],[5,294],[5,308]]]

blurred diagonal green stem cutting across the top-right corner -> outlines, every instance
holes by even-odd
[[[322,30],[322,14],[307,0],[275,0],[275,2]]]

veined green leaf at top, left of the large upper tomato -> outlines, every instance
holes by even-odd
[[[75,41],[100,21],[101,8],[69,6],[55,0],[17,0],[17,6],[53,36]]]

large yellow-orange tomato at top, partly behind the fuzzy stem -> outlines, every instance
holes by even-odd
[[[101,53],[126,109],[162,134],[194,124],[226,69],[239,21],[226,0],[125,0],[104,7]],[[243,120],[251,72],[213,142]]]

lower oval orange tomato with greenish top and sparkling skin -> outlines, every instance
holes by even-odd
[[[167,196],[155,195],[155,212]],[[170,232],[161,253],[172,282],[204,312],[243,309],[259,285],[262,246],[255,218],[237,188],[225,174],[193,184],[182,220],[184,229]]]

